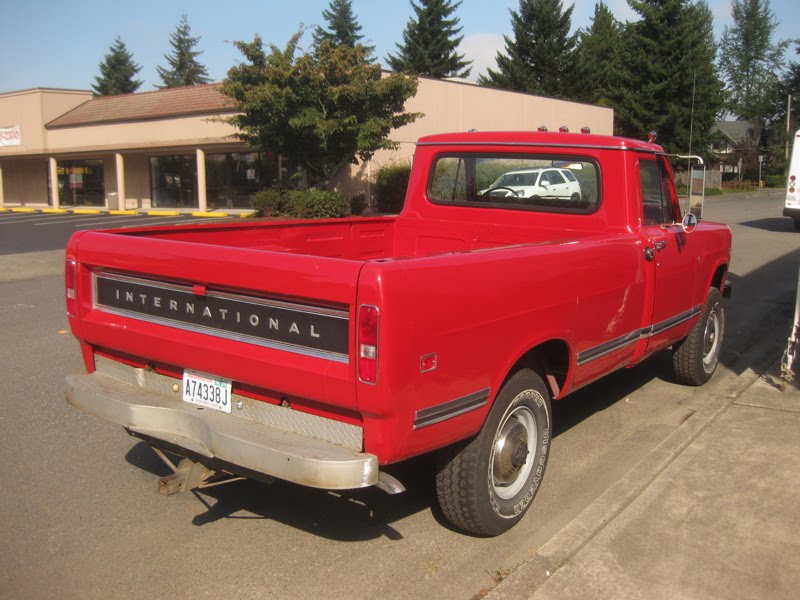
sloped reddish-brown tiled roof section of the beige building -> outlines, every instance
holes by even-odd
[[[50,121],[47,128],[235,112],[233,100],[219,88],[220,84],[210,83],[96,97]]]

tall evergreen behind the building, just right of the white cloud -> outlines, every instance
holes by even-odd
[[[570,35],[573,6],[561,0],[520,0],[511,11],[514,38],[505,37],[497,53],[497,70],[488,69],[479,83],[551,98],[569,98],[575,85],[576,36]]]

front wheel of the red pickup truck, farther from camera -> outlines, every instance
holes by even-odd
[[[675,378],[687,385],[703,385],[711,379],[719,363],[722,338],[725,334],[725,309],[722,294],[711,288],[703,314],[689,335],[672,349],[672,370]]]

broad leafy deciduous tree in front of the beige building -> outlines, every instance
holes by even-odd
[[[251,148],[281,154],[303,168],[311,186],[331,189],[348,164],[397,147],[391,131],[419,116],[405,111],[417,80],[382,77],[358,44],[322,41],[300,53],[301,36],[269,51],[258,36],[234,42],[244,62],[228,71],[221,89],[240,113],[227,121]]]

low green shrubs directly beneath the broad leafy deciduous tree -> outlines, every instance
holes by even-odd
[[[262,217],[329,219],[350,212],[350,201],[337,192],[325,190],[287,190],[270,188],[256,192],[250,199]]]

